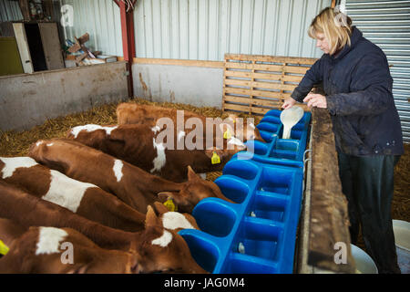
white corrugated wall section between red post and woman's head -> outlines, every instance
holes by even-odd
[[[307,28],[329,5],[330,0],[139,0],[134,16],[137,57],[320,57]]]

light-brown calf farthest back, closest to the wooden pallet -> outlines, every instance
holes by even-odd
[[[183,110],[183,115],[183,125],[186,124],[187,120],[195,118],[199,119],[203,127],[205,127],[207,119],[212,120],[211,118],[207,118],[190,110]],[[120,103],[117,107],[118,125],[147,124],[150,127],[155,127],[157,126],[157,121],[160,118],[169,118],[173,121],[173,124],[177,126],[178,110],[129,102]],[[231,134],[234,135],[234,133],[236,133],[236,137],[241,141],[263,141],[261,138],[261,133],[253,123],[247,122],[246,126],[244,126],[241,121],[243,120],[238,118],[236,115],[231,114],[228,119],[224,120],[224,122],[220,124],[220,130],[222,130],[223,133],[227,130],[227,128],[230,129]],[[217,130],[219,129],[217,128]],[[217,130],[214,131],[214,135],[217,134]],[[206,132],[206,128],[203,129],[203,132]]]

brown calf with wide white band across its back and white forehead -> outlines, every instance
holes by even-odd
[[[125,231],[144,229],[145,214],[96,185],[73,180],[38,164],[31,157],[0,157],[0,178],[97,223]],[[198,229],[190,214],[162,212],[161,217],[164,225],[177,232],[182,228]]]

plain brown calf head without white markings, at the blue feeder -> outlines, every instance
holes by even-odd
[[[218,185],[201,179],[190,166],[188,166],[188,181],[181,184],[182,188],[179,192],[159,193],[159,201],[164,203],[167,200],[172,200],[177,204],[178,210],[184,213],[192,213],[200,200],[209,197],[217,197],[233,203],[220,192]]]

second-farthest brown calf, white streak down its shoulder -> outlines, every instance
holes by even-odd
[[[183,141],[185,131],[173,130],[171,147],[169,141],[161,142],[158,139],[160,131],[157,127],[151,128],[146,124],[129,124],[119,126],[85,125],[77,126],[67,133],[67,138],[81,142],[89,147],[103,151],[120,160],[138,166],[172,182],[182,183],[188,178],[187,168],[190,166],[196,173],[220,172],[224,165],[238,151],[246,146],[231,137],[221,140],[222,147],[216,145],[207,148],[203,137],[195,141],[195,149],[187,149]],[[177,144],[182,146],[177,149]],[[220,161],[212,163],[214,152]]]

